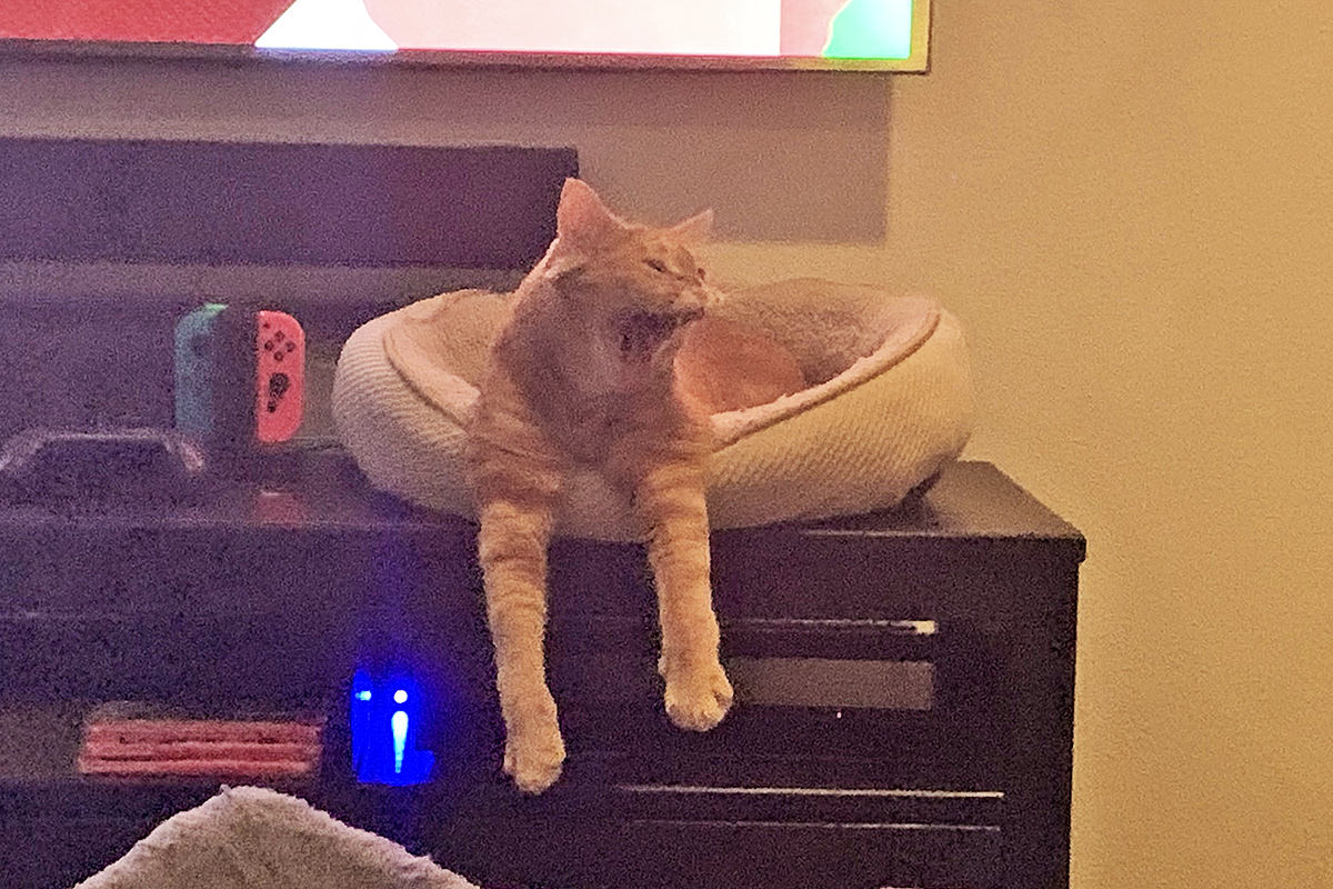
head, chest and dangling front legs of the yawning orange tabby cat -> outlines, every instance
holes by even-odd
[[[507,729],[504,769],[529,793],[551,786],[565,758],[543,637],[553,510],[576,466],[629,494],[643,524],[668,716],[705,730],[732,702],[709,586],[710,407],[696,397],[706,397],[708,372],[696,375],[704,383],[690,393],[674,369],[685,329],[716,299],[689,252],[710,224],[705,212],[672,228],[633,225],[587,184],[567,180],[556,240],[519,285],[492,348],[468,470]]]

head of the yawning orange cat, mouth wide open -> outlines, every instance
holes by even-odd
[[[684,328],[717,299],[690,252],[712,223],[712,211],[669,228],[627,223],[587,183],[567,179],[545,275],[620,361],[668,367]]]

